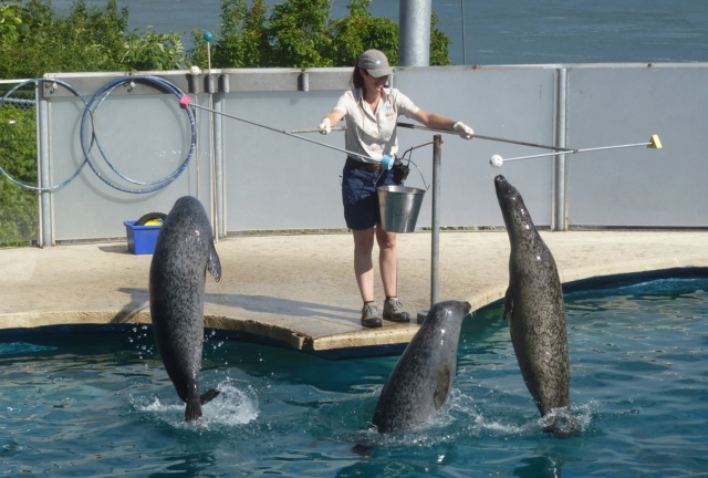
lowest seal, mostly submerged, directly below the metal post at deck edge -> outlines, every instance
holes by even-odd
[[[394,366],[372,423],[378,433],[408,432],[447,401],[457,373],[457,345],[469,302],[438,302]]]

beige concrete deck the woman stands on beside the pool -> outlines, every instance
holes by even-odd
[[[706,231],[541,231],[541,236],[564,283],[708,268]],[[398,247],[398,295],[416,313],[430,305],[430,233],[399,235]],[[361,328],[350,233],[238,236],[220,240],[217,251],[222,278],[215,282],[207,277],[209,328],[299,350],[344,354],[407,343],[418,329],[415,321]],[[472,310],[501,299],[508,260],[503,230],[441,232],[438,299],[467,300]],[[126,242],[1,249],[0,329],[149,323],[150,261],[152,256],[129,253]],[[383,305],[378,277],[376,287]]]

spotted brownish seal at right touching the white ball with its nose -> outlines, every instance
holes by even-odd
[[[494,188],[511,243],[503,316],[521,375],[541,416],[549,417],[545,430],[573,434],[565,305],[555,260],[517,188],[501,175]]]

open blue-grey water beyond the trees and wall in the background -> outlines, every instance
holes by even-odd
[[[52,2],[61,14],[72,3]],[[332,3],[332,18],[346,15],[348,1]],[[104,7],[106,1],[86,4]],[[128,8],[131,29],[184,33],[187,48],[192,30],[219,30],[219,0],[117,4]],[[455,64],[708,61],[705,0],[433,0],[431,7],[440,19],[437,27],[452,41]],[[399,0],[373,0],[368,10],[398,21]]]

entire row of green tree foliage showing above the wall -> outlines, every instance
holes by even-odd
[[[351,0],[343,19],[330,19],[331,0],[221,0],[221,24],[210,43],[212,67],[351,66],[364,50],[398,59],[398,25],[372,17],[372,0]],[[250,7],[249,7],[250,4]],[[449,39],[430,24],[430,64],[449,64]],[[185,54],[181,35],[150,28],[127,31],[128,9],[116,0],[103,8],[74,0],[65,17],[51,0],[0,1],[0,77],[39,77],[48,72],[176,70],[208,66],[204,31]]]

